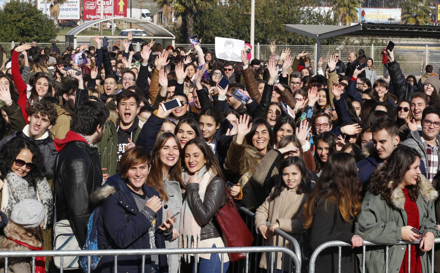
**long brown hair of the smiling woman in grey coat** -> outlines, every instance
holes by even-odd
[[[153,187],[158,191],[162,202],[168,202],[168,194],[166,193],[164,185],[163,164],[159,158],[159,152],[170,138],[173,138],[176,141],[176,145],[179,148],[179,154],[182,154],[179,139],[177,139],[176,135],[169,132],[160,135],[156,139],[156,142],[154,142],[154,147],[151,150],[151,170],[147,178],[147,186]],[[170,181],[177,181],[180,186],[183,187],[182,165],[180,164],[179,158],[177,159],[176,164],[169,169],[168,175]]]

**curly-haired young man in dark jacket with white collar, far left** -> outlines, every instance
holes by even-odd
[[[55,149],[54,141],[51,138],[49,129],[55,125],[58,118],[55,106],[48,102],[36,102],[30,108],[29,124],[27,124],[22,131],[15,131],[14,134],[3,138],[0,141],[0,149],[11,138],[21,136],[34,142],[44,157],[44,165],[46,166],[47,176],[49,180],[53,177],[53,166],[55,164],[55,157],[58,152]],[[11,120],[11,123],[14,120]]]

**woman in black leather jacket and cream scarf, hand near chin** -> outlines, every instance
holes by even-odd
[[[183,202],[180,234],[183,248],[224,248],[220,232],[214,224],[214,215],[224,204],[225,182],[213,150],[202,139],[192,139],[183,148],[183,184],[186,198]],[[223,258],[220,271],[220,254],[199,254],[198,272],[225,273],[229,266],[228,255]],[[189,261],[189,256],[185,259]]]

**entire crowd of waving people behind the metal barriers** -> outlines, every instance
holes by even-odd
[[[313,76],[308,52],[292,56],[275,43],[268,60],[251,59],[245,44],[241,62],[230,62],[200,44],[184,51],[151,41],[136,52],[132,39],[122,50],[95,36],[96,47],[60,52],[33,42],[9,60],[3,54],[0,250],[61,249],[62,223],[79,248],[91,226],[97,249],[223,248],[216,214],[230,194],[255,212],[265,245],[275,244],[275,229],[307,237],[301,247],[312,250],[341,240],[351,245],[341,272],[360,272],[364,240],[417,241],[390,246],[388,261],[384,248],[368,247],[367,272],[384,272],[386,262],[396,272],[409,264],[429,272],[427,251],[440,236],[440,80],[432,66],[419,80],[405,78],[384,49],[389,78],[378,78],[363,50],[347,64],[335,52]],[[72,60],[78,52],[88,61],[81,67]],[[173,99],[178,107],[164,107]],[[281,257],[276,271],[287,272]],[[440,272],[440,252],[435,260]],[[268,261],[263,254],[259,267]],[[220,254],[125,255],[117,272],[220,272],[221,263],[226,272],[229,262]],[[114,266],[103,256],[95,270]],[[8,260],[12,272],[32,267],[29,258]],[[321,252],[315,272],[337,268],[338,249]],[[38,257],[35,270],[59,266]]]

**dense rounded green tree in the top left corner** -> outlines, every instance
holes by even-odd
[[[44,15],[34,2],[11,0],[0,9],[0,40],[21,41],[54,40],[58,28],[48,15]]]

